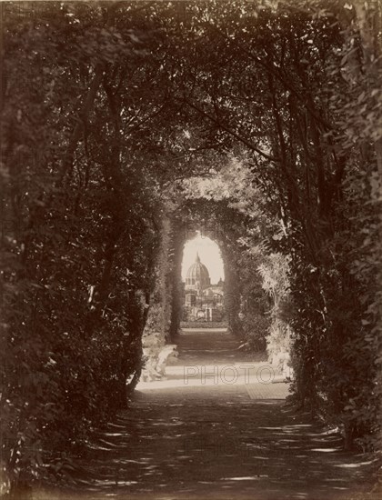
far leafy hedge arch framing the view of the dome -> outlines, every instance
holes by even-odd
[[[232,201],[232,200],[231,200]],[[182,283],[182,261],[184,247],[197,235],[203,235],[218,246],[224,270],[223,321],[228,330],[245,340],[256,352],[266,349],[269,302],[257,266],[259,250],[248,246],[247,234],[254,231],[260,220],[251,220],[243,215],[229,200],[211,200],[206,196],[185,199],[174,214],[174,269],[172,274],[172,319],[169,340],[176,342],[184,315],[185,285]],[[261,243],[261,235],[256,236]],[[206,264],[203,262],[202,263]],[[183,271],[184,273],[186,270]],[[183,276],[184,277],[184,276]],[[216,276],[217,277],[217,276]],[[219,276],[220,277],[220,276]],[[192,284],[191,284],[192,288]],[[212,291],[213,292],[213,291]],[[191,304],[187,305],[190,313]],[[197,313],[193,310],[192,314]],[[211,312],[209,314],[214,314]],[[218,313],[216,312],[216,320]],[[200,320],[202,313],[200,312]],[[211,316],[208,316],[210,319]],[[196,318],[193,317],[193,320]]]

